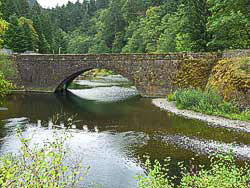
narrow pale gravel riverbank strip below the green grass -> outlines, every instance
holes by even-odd
[[[205,115],[191,110],[179,110],[177,109],[175,102],[168,102],[167,99],[164,98],[153,99],[152,103],[163,110],[169,111],[179,116],[183,116],[189,119],[197,119],[200,121],[204,121],[209,125],[213,126],[225,127],[250,133],[250,123],[248,122],[239,120],[230,120],[218,116]]]

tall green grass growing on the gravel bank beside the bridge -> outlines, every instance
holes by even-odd
[[[178,109],[193,110],[207,115],[216,115],[228,119],[250,121],[250,109],[240,111],[234,101],[224,101],[216,91],[203,92],[199,89],[178,90],[168,96],[176,101]]]

